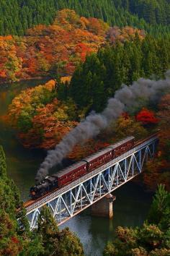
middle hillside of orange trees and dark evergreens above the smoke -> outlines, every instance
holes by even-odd
[[[27,148],[53,148],[89,111],[102,111],[107,98],[122,83],[130,85],[139,77],[164,77],[170,65],[169,47],[169,40],[136,37],[87,56],[69,85],[67,81],[51,81],[23,91],[9,107],[9,120],[18,130],[20,141]],[[141,103],[143,106],[142,99]],[[135,108],[133,113],[138,111]],[[135,134],[134,125],[136,130],[135,120],[126,124],[128,135],[130,130]],[[139,130],[136,134],[141,135]]]

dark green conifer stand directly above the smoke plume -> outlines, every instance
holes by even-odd
[[[97,55],[87,56],[84,64],[76,69],[68,92],[59,87],[59,96],[61,99],[71,96],[79,108],[102,111],[107,98],[122,83],[130,85],[139,77],[162,77],[170,67],[169,53],[170,40],[151,37],[101,48]]]

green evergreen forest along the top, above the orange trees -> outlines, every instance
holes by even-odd
[[[56,11],[64,8],[74,9],[84,17],[100,18],[112,26],[130,25],[153,35],[167,35],[169,5],[168,0],[2,0],[0,35],[24,35],[33,25],[50,25]]]

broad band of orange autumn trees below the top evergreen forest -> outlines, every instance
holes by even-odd
[[[52,25],[37,25],[23,37],[0,37],[0,82],[47,75],[70,76],[86,54],[113,40],[134,38],[140,30],[109,25],[96,18],[79,17],[75,11],[58,11]],[[114,39],[112,37],[113,30]],[[112,33],[111,33],[112,31]],[[121,37],[120,37],[121,34]]]

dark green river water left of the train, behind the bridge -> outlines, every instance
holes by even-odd
[[[43,84],[45,80],[31,80],[11,85],[0,85],[0,116],[4,116],[12,99],[27,87]],[[6,154],[7,171],[19,187],[23,200],[27,200],[29,187],[34,184],[37,167],[44,157],[38,150],[26,150],[17,141],[16,134],[0,119],[0,145]]]

